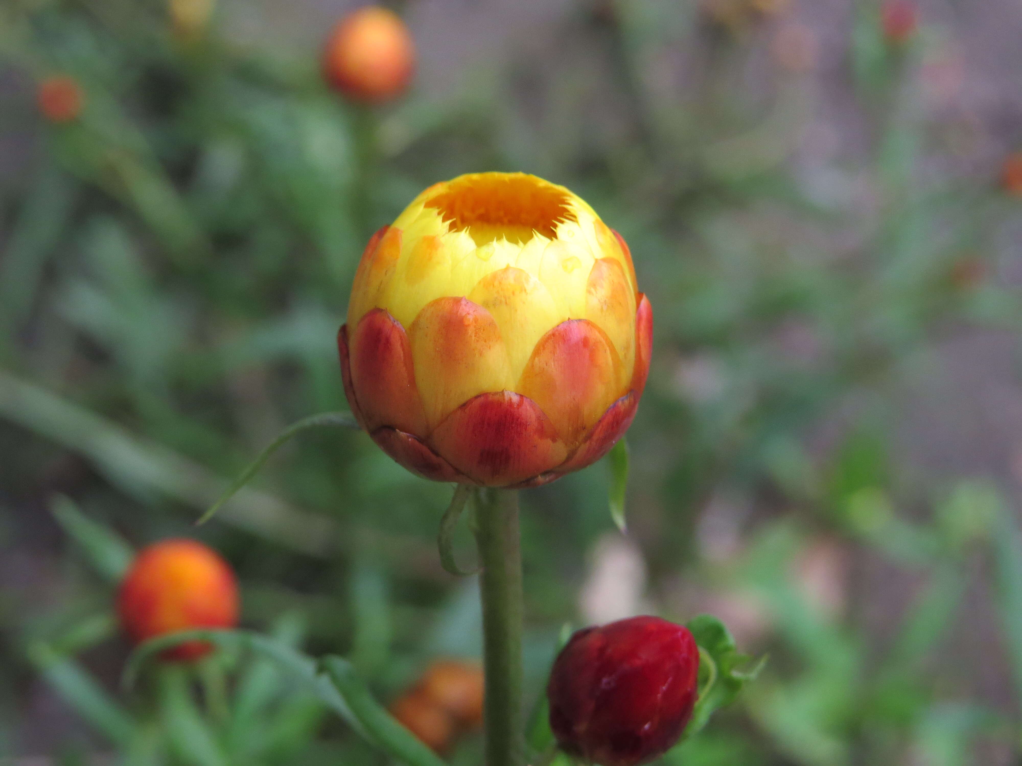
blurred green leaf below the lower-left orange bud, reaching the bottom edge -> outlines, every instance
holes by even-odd
[[[178,757],[194,766],[228,766],[223,746],[192,698],[185,668],[168,663],[159,674],[159,715]]]

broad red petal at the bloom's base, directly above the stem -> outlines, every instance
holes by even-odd
[[[485,486],[530,479],[567,457],[550,419],[535,401],[513,391],[472,397],[444,419],[429,443],[451,465]]]

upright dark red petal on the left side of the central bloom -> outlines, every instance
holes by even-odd
[[[426,416],[405,328],[383,308],[373,308],[355,328],[351,354],[352,386],[367,430],[390,426],[425,436]]]

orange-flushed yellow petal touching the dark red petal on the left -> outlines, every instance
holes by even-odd
[[[512,389],[500,328],[467,298],[427,303],[408,339],[429,429],[477,394]]]

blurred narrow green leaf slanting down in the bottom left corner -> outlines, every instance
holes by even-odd
[[[45,643],[32,644],[29,659],[57,693],[106,738],[122,747],[132,741],[135,721],[81,665]]]

